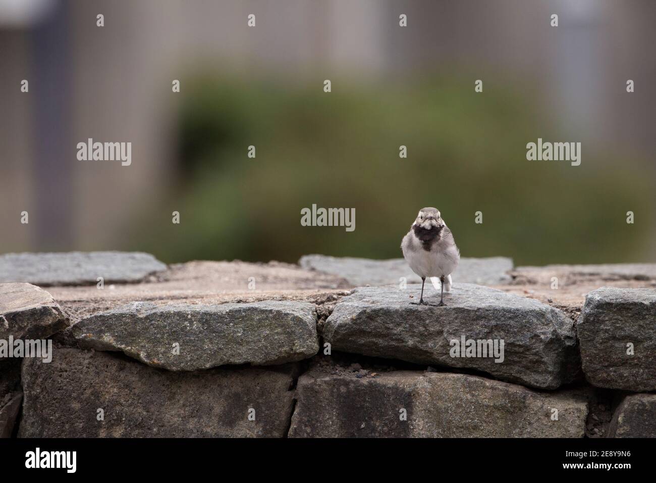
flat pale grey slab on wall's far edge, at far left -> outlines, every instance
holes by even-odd
[[[0,282],[40,287],[142,281],[167,266],[141,252],[8,253],[0,255]]]

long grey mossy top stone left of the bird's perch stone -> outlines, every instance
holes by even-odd
[[[319,351],[316,321],[314,305],[308,302],[218,306],[137,302],[91,315],[72,331],[83,348],[122,351],[169,371],[196,371],[312,357]]]

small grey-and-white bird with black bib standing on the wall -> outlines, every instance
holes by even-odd
[[[444,290],[451,292],[451,273],[460,261],[460,250],[455,244],[453,233],[441,217],[437,208],[422,208],[410,231],[401,241],[403,258],[413,272],[421,277],[419,302],[411,304],[430,305],[424,302],[424,283],[430,278],[434,287],[440,283],[440,304],[445,306]]]

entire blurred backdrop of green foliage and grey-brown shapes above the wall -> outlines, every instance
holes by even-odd
[[[396,258],[436,206],[462,256],[654,262],[655,20],[651,0],[0,0],[0,253]],[[131,166],[77,160],[90,137]],[[528,161],[539,137],[581,166]],[[355,231],[301,226],[312,204]]]

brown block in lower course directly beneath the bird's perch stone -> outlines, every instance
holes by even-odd
[[[573,392],[419,371],[361,379],[311,371],[298,379],[297,399],[291,437],[583,438],[588,414]]]

